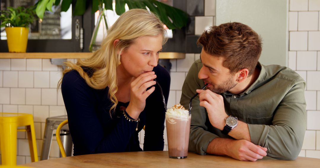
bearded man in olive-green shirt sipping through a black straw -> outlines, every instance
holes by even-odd
[[[189,151],[256,161],[294,160],[307,127],[305,81],[287,67],[258,62],[261,39],[249,26],[213,26],[198,39],[180,103],[191,110]],[[208,84],[206,90],[199,90]]]

